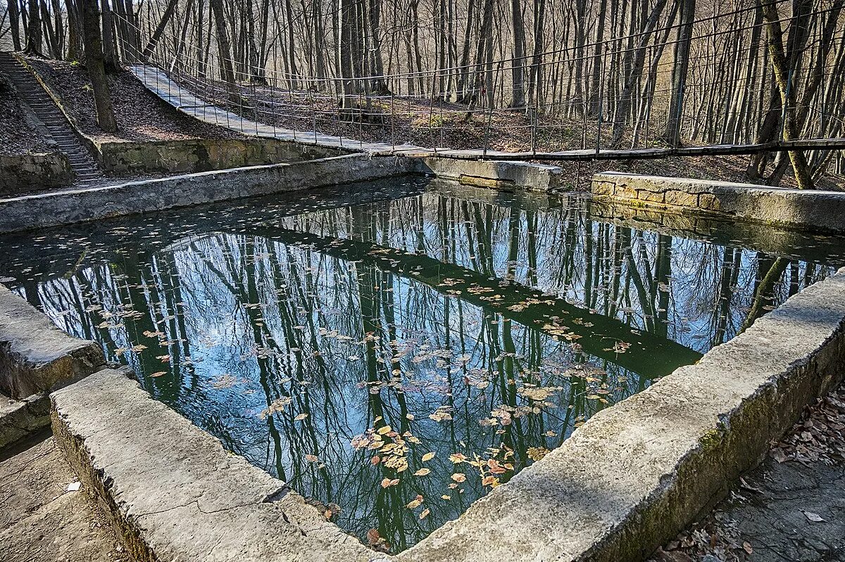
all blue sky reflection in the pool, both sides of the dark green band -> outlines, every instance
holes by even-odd
[[[589,307],[631,327],[646,329],[645,307],[659,300],[657,289],[644,297],[632,279],[657,287],[655,263],[661,240],[668,238],[601,223],[577,208],[526,211],[427,192],[295,217],[268,209],[255,222],[270,235],[280,226],[423,251],[578,305],[589,295]],[[379,408],[388,424],[421,441],[411,447],[410,462],[417,464],[410,472],[420,466],[423,453],[437,452],[428,463],[431,476],[403,481],[405,495],[395,498],[401,508],[406,494],[438,498],[449,492],[444,486],[454,470],[450,453],[485,457],[493,454],[489,447],[501,446],[501,426],[479,420],[491,418],[503,403],[532,405],[522,394],[509,396],[508,379],[523,390],[554,387],[539,413],[522,415],[518,430],[510,426],[508,438],[520,441],[523,451],[559,445],[576,421],[604,407],[599,397],[613,403],[648,384],[617,365],[575,353],[569,343],[485,315],[412,275],[403,278],[232,230],[237,229],[200,228],[173,241],[168,228],[158,224],[147,245],[128,249],[92,246],[85,237],[60,238],[57,244],[74,260],[74,252],[85,248],[85,260],[71,274],[39,278],[38,301],[59,327],[100,341],[112,359],[139,373],[154,397],[227,448],[303,494],[340,503],[341,525],[359,535],[395,518],[384,511],[387,500],[373,495],[384,477],[381,468],[370,466],[371,453],[350,446],[355,435],[373,427]],[[630,258],[622,243],[626,235]],[[729,290],[724,338],[730,338],[750,305],[760,258],[755,251],[671,239],[669,338],[702,352],[721,338],[715,334],[726,255],[739,264]],[[804,262],[795,267],[799,288],[830,270],[810,266],[808,271]],[[31,275],[21,273],[21,281]],[[792,275],[788,271],[778,286],[773,304],[788,294]],[[615,302],[608,297],[614,286]],[[127,316],[129,311],[135,313]],[[367,332],[373,336],[369,358],[362,343]],[[139,344],[146,349],[135,347]],[[290,403],[262,417],[280,398]],[[450,422],[428,418],[441,407],[450,408]],[[308,417],[297,420],[302,413]],[[549,431],[552,435],[546,435]],[[316,455],[319,462],[308,462],[305,455]],[[408,512],[406,528],[417,533],[408,540],[457,516],[479,494],[481,486],[468,482],[457,503],[431,505],[433,514],[424,524]]]

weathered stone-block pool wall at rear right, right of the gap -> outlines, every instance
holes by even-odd
[[[630,205],[801,230],[845,232],[845,193],[603,172],[591,192]]]

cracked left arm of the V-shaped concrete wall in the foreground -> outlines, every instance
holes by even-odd
[[[379,558],[125,371],[101,370],[52,403],[57,443],[138,562]]]

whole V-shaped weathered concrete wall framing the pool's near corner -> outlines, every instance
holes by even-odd
[[[116,371],[54,392],[53,426],[139,559],[635,560],[725,494],[837,384],[843,322],[845,270],[597,413],[396,556],[363,547]]]

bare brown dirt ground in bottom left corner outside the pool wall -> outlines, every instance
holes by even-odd
[[[130,562],[85,490],[75,489],[52,435],[10,452],[0,457],[0,559]]]

